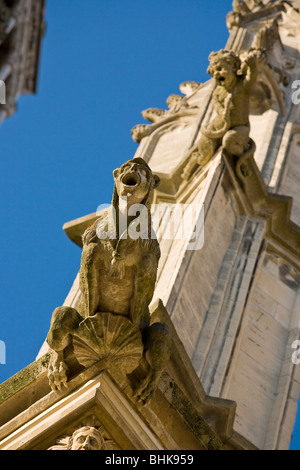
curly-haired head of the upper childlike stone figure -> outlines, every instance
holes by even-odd
[[[209,56],[210,65],[207,73],[213,76],[218,86],[230,89],[236,83],[241,67],[240,58],[232,51],[220,50]]]

